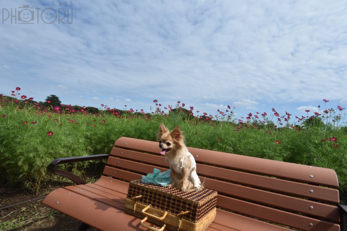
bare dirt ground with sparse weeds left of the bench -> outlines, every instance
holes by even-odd
[[[48,195],[49,192],[56,188],[69,185],[73,185],[73,183],[49,181],[42,186],[41,193],[37,196],[33,195],[29,190],[22,189],[22,187],[19,186],[2,186],[0,188],[0,230],[77,230],[81,222],[42,204],[44,198],[40,199],[40,197]],[[30,201],[32,199],[35,200]],[[30,202],[18,204],[26,201]],[[15,206],[3,208],[10,205]],[[95,229],[90,228],[89,230]]]

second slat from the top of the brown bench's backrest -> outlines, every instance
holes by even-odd
[[[122,152],[122,153],[121,153]],[[155,156],[152,154],[141,153],[137,151],[130,151],[125,149],[113,148],[111,155],[114,157],[127,158],[134,161],[140,161],[145,163],[151,163],[156,168],[162,170],[169,167],[168,163],[165,163],[165,157]],[[117,166],[115,163],[118,159],[113,159],[110,157],[108,161],[112,160],[111,165]],[[240,172],[225,168],[218,168],[209,165],[203,165],[197,163],[196,165],[197,173],[200,176],[209,176],[212,178],[217,178],[221,180],[232,181],[238,184],[249,185],[257,188],[263,188],[267,190],[272,190],[275,192],[290,194],[299,197],[305,197],[310,199],[315,199],[319,201],[324,201],[328,203],[339,203],[339,191],[337,189],[320,187],[315,185],[308,185],[304,183],[298,183],[294,181],[282,180],[273,177],[254,175],[247,172]],[[128,169],[131,169],[129,165]],[[152,171],[149,169],[149,171]],[[149,172],[148,172],[149,173]],[[310,190],[313,190],[311,193]]]

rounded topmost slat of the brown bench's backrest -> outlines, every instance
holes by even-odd
[[[120,137],[115,142],[115,146],[156,154],[160,151],[158,142],[128,137]],[[332,169],[320,167],[310,168],[309,166],[295,163],[280,162],[197,148],[188,148],[188,150],[193,154],[193,156],[198,156],[195,157],[195,160],[199,163],[234,168],[241,171],[292,179],[332,188],[338,188],[339,186],[337,175]],[[226,156],[228,156],[228,158],[226,158]]]

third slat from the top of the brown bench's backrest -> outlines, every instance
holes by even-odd
[[[115,157],[110,157],[107,163],[109,165],[117,166],[119,168],[125,168],[130,170],[136,169],[138,173],[144,174],[144,175],[146,175],[146,173],[153,171],[152,165],[147,165],[145,163],[139,163],[139,162],[125,160],[125,159],[119,159]],[[160,167],[158,167],[158,169],[160,169],[161,171],[166,170]],[[138,179],[141,179],[141,177],[139,177]],[[205,183],[206,188],[218,191],[221,194],[226,194],[232,197],[246,199],[248,201],[253,201],[255,203],[262,203],[262,204],[266,204],[266,205],[270,205],[270,206],[274,206],[278,208],[283,208],[290,211],[300,212],[307,215],[318,216],[318,217],[326,218],[336,222],[340,221],[339,208],[337,206],[308,201],[301,198],[268,192],[267,190],[264,191],[264,190],[260,190],[256,188],[246,187],[246,186],[237,185],[237,184],[231,184],[225,181],[220,181],[220,180],[215,180],[210,178],[201,177],[201,180]],[[217,201],[217,205],[222,207],[222,204],[220,204],[218,201]],[[310,209],[311,206],[313,206],[313,209]],[[232,205],[230,207],[224,207],[224,208],[228,208],[229,210],[232,210]]]

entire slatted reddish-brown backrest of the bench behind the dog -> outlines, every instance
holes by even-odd
[[[121,137],[115,144],[105,176],[131,181],[153,168],[169,168],[157,142]],[[332,169],[188,149],[205,187],[218,191],[217,206],[294,229],[340,230],[334,223],[340,221],[340,213]]]

